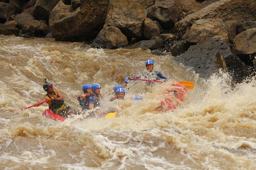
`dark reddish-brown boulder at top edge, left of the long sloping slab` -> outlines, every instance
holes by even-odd
[[[183,18],[182,5],[175,0],[156,2],[149,8],[148,17],[158,21],[162,28],[170,29]]]

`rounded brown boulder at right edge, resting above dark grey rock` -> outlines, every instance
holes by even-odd
[[[247,29],[236,35],[233,43],[233,51],[236,55],[256,53],[256,28]]]

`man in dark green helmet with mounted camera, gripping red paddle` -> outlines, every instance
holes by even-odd
[[[64,97],[60,90],[53,89],[53,84],[50,82],[47,82],[46,79],[44,79],[45,83],[43,85],[44,91],[47,92],[46,95],[44,95],[44,98],[40,102],[44,102],[52,98],[53,100],[48,101],[49,109],[52,110],[53,113],[57,113],[58,115],[67,118],[69,114],[81,114],[80,112],[76,111],[75,109],[71,109],[70,106],[66,106],[64,102]],[[41,104],[34,104],[34,107],[38,107]]]

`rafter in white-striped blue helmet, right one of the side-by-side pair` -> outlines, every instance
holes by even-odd
[[[100,106],[100,94],[101,86],[99,84],[93,84],[91,86],[92,94],[87,98],[82,106],[82,111],[93,110],[96,107]],[[86,118],[95,117],[95,113],[91,112]]]

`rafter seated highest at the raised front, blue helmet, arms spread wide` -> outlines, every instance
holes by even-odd
[[[161,80],[161,79],[164,79],[164,81],[167,80],[167,78],[164,77],[164,75],[162,75],[160,72],[157,72],[157,71],[153,70],[153,68],[154,68],[154,61],[153,60],[147,60],[145,62],[145,65],[146,65],[147,72],[145,74],[140,75],[139,77],[132,77],[132,78],[147,79],[147,80]],[[124,80],[124,83],[127,84],[129,80],[130,80],[130,77],[126,77],[126,79]]]

